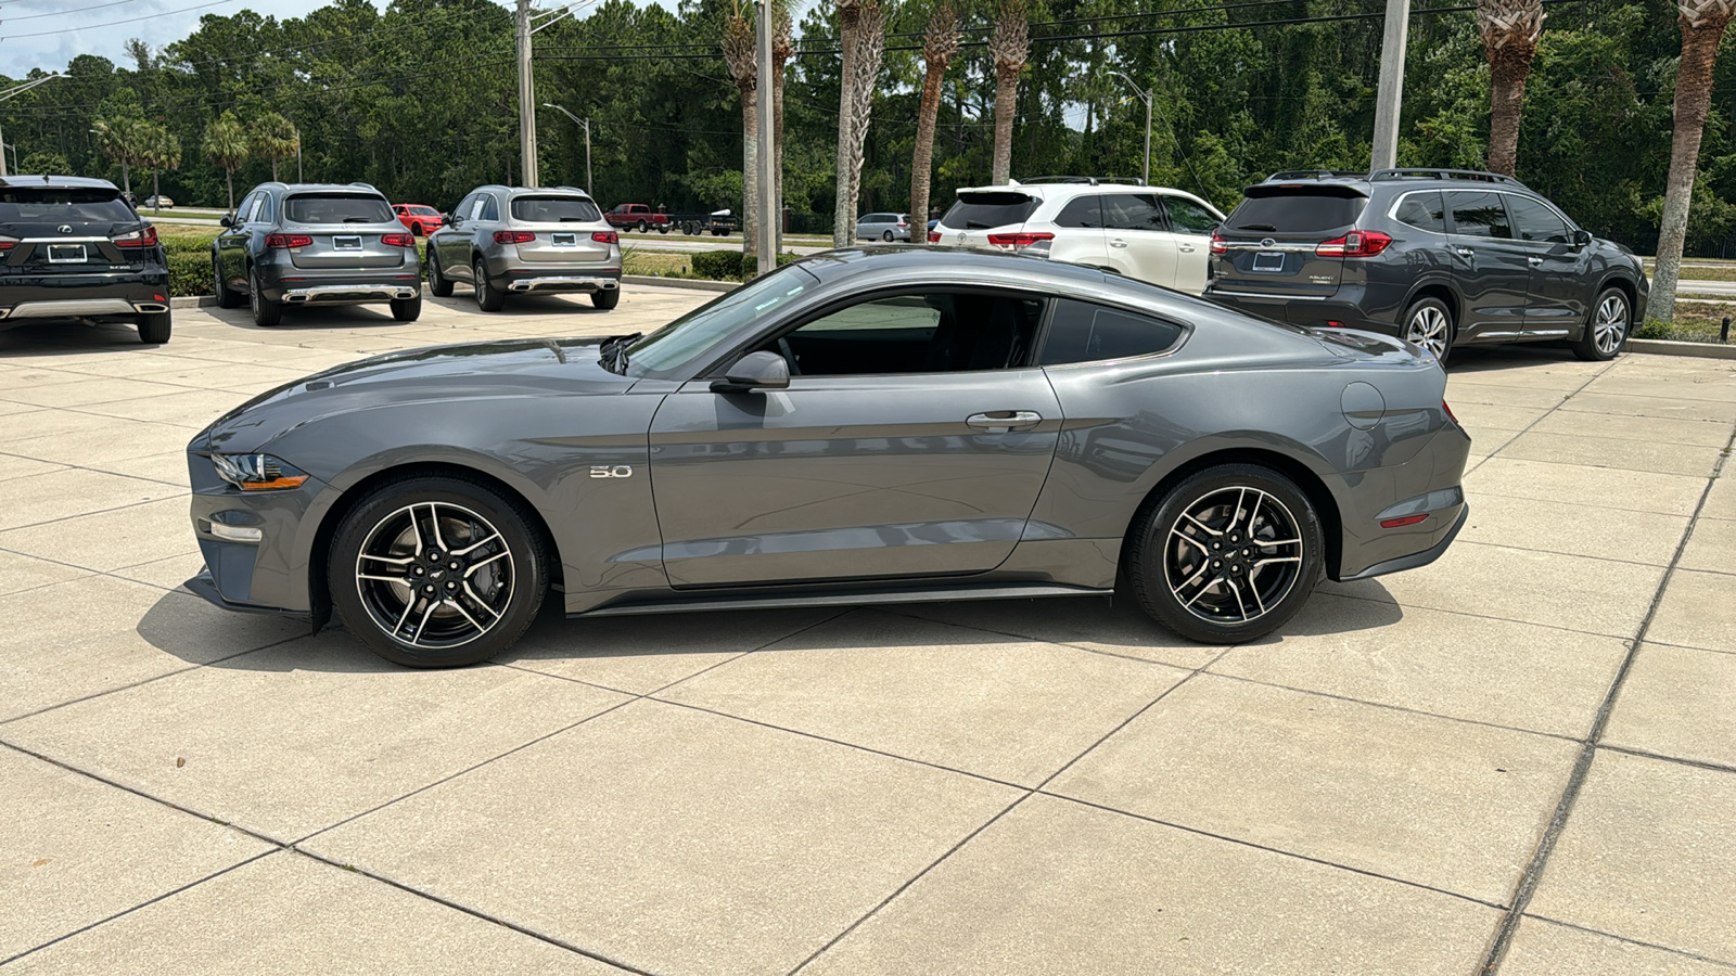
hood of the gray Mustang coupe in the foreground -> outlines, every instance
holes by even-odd
[[[358,359],[279,386],[201,431],[191,452],[253,452],[337,415],[455,399],[618,396],[634,386],[599,363],[601,339],[432,346]]]

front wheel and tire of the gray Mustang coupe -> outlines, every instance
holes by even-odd
[[[380,485],[332,537],[332,606],[356,639],[392,663],[488,660],[524,634],[549,589],[535,524],[523,505],[462,478]]]

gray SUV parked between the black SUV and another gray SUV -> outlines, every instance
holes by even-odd
[[[285,306],[385,302],[398,321],[422,314],[422,262],[378,189],[365,182],[262,182],[212,243],[217,304],[278,325]]]

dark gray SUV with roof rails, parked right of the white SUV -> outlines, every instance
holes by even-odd
[[[1641,262],[1522,182],[1469,170],[1281,172],[1212,236],[1219,304],[1427,347],[1568,340],[1613,359],[1646,314]]]

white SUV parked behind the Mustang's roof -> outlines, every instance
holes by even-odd
[[[960,189],[929,243],[1088,264],[1198,295],[1224,214],[1180,189],[1042,177]]]

